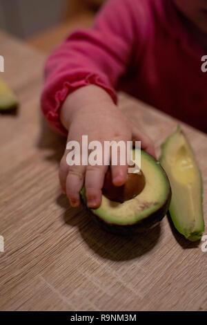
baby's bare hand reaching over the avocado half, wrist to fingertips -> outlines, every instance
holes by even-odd
[[[141,133],[124,113],[113,104],[110,96],[98,86],[84,86],[71,93],[61,108],[61,122],[68,129],[68,141],[76,140],[80,145],[82,136],[88,136],[88,143],[99,140],[141,141],[141,148],[155,156],[153,142]],[[67,141],[67,142],[68,142]],[[85,183],[88,207],[97,208],[101,204],[101,189],[108,169],[107,165],[73,165],[66,162],[66,149],[59,167],[59,179],[63,193],[66,193],[70,205],[80,205],[79,192]],[[80,157],[80,162],[81,162]],[[118,158],[119,161],[119,158]],[[112,182],[121,186],[126,182],[128,165],[112,165]]]

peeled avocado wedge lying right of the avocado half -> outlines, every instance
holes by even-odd
[[[172,188],[169,212],[175,228],[189,241],[201,239],[205,227],[201,172],[180,126],[161,145],[159,161]]]

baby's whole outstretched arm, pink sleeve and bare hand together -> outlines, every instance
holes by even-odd
[[[52,53],[46,64],[42,110],[55,129],[68,140],[141,140],[143,149],[154,154],[144,136],[116,106],[119,77],[127,71],[137,39],[129,0],[111,0],[103,6],[89,31],[79,30]],[[81,143],[81,142],[80,142]],[[89,207],[101,203],[106,166],[73,166],[61,160],[60,181],[72,206],[78,206],[85,181]],[[115,185],[126,180],[124,166],[112,167]]]

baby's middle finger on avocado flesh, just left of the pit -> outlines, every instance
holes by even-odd
[[[101,189],[108,166],[88,166],[86,169],[86,197],[88,207],[97,208],[101,205]]]

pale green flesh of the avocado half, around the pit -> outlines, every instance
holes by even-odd
[[[133,157],[135,157],[135,152],[133,153]],[[136,160],[133,161],[138,165]],[[170,201],[168,178],[164,170],[160,167],[159,162],[142,150],[141,171],[146,178],[146,184],[140,194],[124,203],[110,201],[106,196],[102,195],[101,205],[99,208],[92,210],[93,214],[102,219],[102,221],[115,225],[139,223],[139,221],[147,219],[154,212],[158,212],[156,215],[159,215],[159,210],[165,215],[166,201]],[[82,196],[84,201],[86,201],[84,188],[82,189]],[[162,210],[164,205],[165,210]]]

